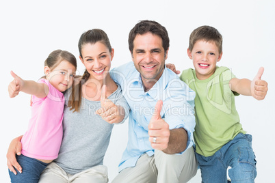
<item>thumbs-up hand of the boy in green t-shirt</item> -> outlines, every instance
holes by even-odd
[[[257,75],[251,82],[251,94],[257,100],[263,100],[267,94],[267,82],[261,80],[261,76],[263,75],[263,68],[259,68]]]

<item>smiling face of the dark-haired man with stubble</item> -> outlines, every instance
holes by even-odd
[[[164,69],[168,51],[164,51],[162,40],[152,33],[137,34],[133,40],[133,63],[142,76],[142,81],[158,81]]]

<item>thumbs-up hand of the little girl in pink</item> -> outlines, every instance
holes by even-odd
[[[14,80],[10,82],[10,84],[8,85],[8,92],[9,92],[10,98],[14,98],[22,90],[24,81],[23,79],[21,79],[21,77],[17,76],[14,72],[11,71],[10,74],[12,75]]]

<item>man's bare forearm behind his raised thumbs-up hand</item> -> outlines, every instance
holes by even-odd
[[[170,130],[168,147],[163,150],[166,154],[176,154],[183,152],[187,146],[187,132],[184,128]]]

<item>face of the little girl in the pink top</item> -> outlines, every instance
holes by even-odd
[[[49,67],[44,68],[47,80],[58,91],[64,92],[73,85],[75,71],[77,68],[70,64],[70,62],[63,60],[53,70]]]

